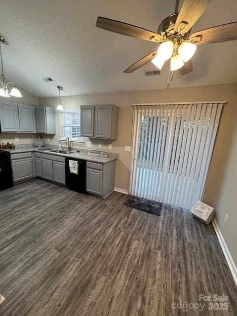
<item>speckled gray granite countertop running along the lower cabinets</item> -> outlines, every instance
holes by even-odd
[[[49,150],[38,150],[36,147],[20,147],[15,149],[6,149],[6,151],[10,152],[10,154],[20,154],[20,153],[30,153],[30,152],[38,152],[42,154],[49,154],[49,155],[56,155],[56,156],[63,156],[69,158],[78,158],[82,160],[87,160],[91,162],[98,162],[98,163],[108,163],[110,161],[118,159],[118,154],[108,153],[107,157],[97,156],[97,155],[90,155],[86,149],[72,149],[72,151],[79,151],[79,153],[75,152],[72,154],[64,154],[64,153],[54,153]]]

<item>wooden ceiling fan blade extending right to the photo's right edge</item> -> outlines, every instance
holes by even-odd
[[[219,43],[228,40],[237,40],[237,22],[218,25],[195,32],[190,36],[190,41],[196,45]]]

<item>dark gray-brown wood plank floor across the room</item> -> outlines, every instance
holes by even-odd
[[[212,225],[172,208],[156,217],[125,199],[41,180],[0,192],[0,316],[237,315]],[[230,308],[172,308],[204,303],[198,294],[228,295]]]

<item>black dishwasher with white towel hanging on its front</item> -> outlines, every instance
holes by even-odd
[[[69,160],[76,160],[79,163],[78,174],[71,173]],[[77,158],[66,158],[66,186],[73,191],[85,193],[85,167],[86,161]]]

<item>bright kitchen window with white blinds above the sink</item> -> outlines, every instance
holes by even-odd
[[[82,142],[80,136],[80,110],[67,110],[61,112],[61,138]]]

